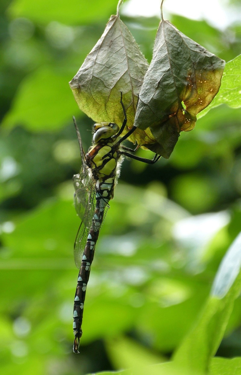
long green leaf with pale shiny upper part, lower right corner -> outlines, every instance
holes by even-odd
[[[237,265],[232,269],[234,260]],[[241,233],[227,251],[211,295],[194,328],[174,355],[176,364],[190,371],[206,371],[223,338],[235,299],[241,290]]]

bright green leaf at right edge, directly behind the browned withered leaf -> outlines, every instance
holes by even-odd
[[[232,108],[241,107],[241,55],[229,61],[223,72],[220,90],[212,103],[200,113],[204,116],[211,108],[220,104],[227,104]]]

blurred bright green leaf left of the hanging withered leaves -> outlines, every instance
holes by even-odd
[[[52,68],[38,69],[21,83],[3,126],[22,124],[30,130],[54,130],[76,113],[69,95],[68,75]]]

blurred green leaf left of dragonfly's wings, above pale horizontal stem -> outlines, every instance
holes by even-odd
[[[49,258],[56,252],[59,257],[69,257],[74,264],[72,242],[79,220],[71,205],[69,200],[45,201],[35,210],[20,216],[15,230],[3,235],[3,243],[11,248],[14,256]]]

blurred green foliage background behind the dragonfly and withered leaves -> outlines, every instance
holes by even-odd
[[[121,18],[151,60],[159,1]],[[179,4],[181,3],[181,5]],[[116,12],[116,0],[0,4],[0,371],[71,375],[170,358],[241,227],[241,110],[220,106],[181,133],[169,160],[126,160],[96,247],[80,354],[72,353],[79,219],[72,175],[92,120],[68,81]],[[241,53],[240,2],[166,0],[165,18],[229,61]],[[144,17],[149,16],[149,17]],[[186,18],[186,17],[189,18]],[[152,157],[149,151],[140,156]],[[241,356],[241,299],[219,356]]]

